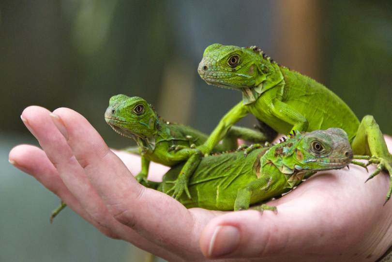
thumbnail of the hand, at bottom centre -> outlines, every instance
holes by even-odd
[[[212,235],[208,255],[218,257],[234,251],[240,242],[240,231],[233,226],[218,226]]]

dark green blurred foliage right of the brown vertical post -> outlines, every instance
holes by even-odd
[[[323,1],[326,85],[392,135],[391,1]]]

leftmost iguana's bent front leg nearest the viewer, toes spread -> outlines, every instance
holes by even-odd
[[[194,145],[193,145],[194,146]],[[174,184],[174,186],[169,189],[166,194],[173,192],[172,197],[179,200],[182,192],[185,190],[186,195],[192,200],[191,193],[188,189],[188,181],[191,175],[195,172],[197,166],[199,165],[203,154],[199,149],[188,148],[186,146],[176,146],[176,153],[179,157],[188,159],[185,165],[182,167],[180,175],[174,181],[167,181],[166,183]]]

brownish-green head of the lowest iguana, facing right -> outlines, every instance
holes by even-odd
[[[289,140],[287,140],[288,142]],[[346,167],[353,160],[347,133],[339,128],[305,133],[302,138],[282,150],[282,163],[291,170],[317,171]]]

